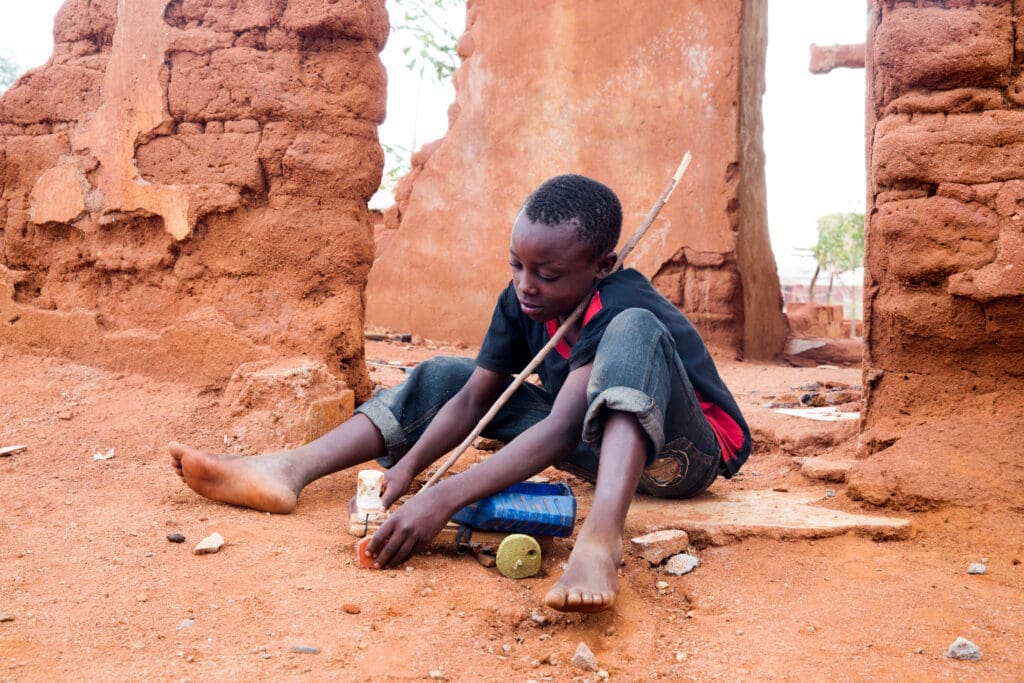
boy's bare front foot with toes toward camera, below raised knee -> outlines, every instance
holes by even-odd
[[[544,598],[552,609],[563,612],[599,612],[615,602],[622,541],[613,544],[577,541],[568,565]]]

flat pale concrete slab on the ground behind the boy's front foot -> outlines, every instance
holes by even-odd
[[[822,507],[821,489],[708,493],[690,501],[638,497],[627,525],[643,531],[678,528],[696,546],[724,546],[746,538],[823,539],[843,533],[877,541],[909,537],[910,521]]]

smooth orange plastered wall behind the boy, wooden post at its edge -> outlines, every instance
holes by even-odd
[[[625,241],[690,150],[689,172],[627,264],[713,344],[778,352],[760,139],[765,11],[739,0],[470,0],[451,128],[399,187],[368,319],[478,343],[534,187],[559,173],[605,182],[623,201]]]

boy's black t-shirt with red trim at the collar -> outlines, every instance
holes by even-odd
[[[601,281],[584,315],[580,339],[571,349],[562,340],[537,369],[545,390],[553,398],[569,372],[593,361],[608,323],[627,308],[645,308],[654,313],[676,340],[676,351],[700,398],[719,405],[742,430],[742,447],[734,460],[726,463],[729,474],[734,474],[750,455],[750,428],[693,324],[638,270],[627,268]],[[516,374],[548,343],[557,327],[553,321],[543,324],[527,317],[509,283],[498,297],[476,365],[484,370]]]

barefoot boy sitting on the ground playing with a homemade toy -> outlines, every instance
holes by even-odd
[[[295,451],[243,458],[171,444],[174,468],[212,500],[286,513],[310,481],[377,459],[384,505],[456,445],[595,283],[586,313],[485,436],[507,445],[411,498],[374,533],[376,566],[399,564],[465,505],[556,466],[595,481],[594,502],[545,601],[563,611],[614,602],[626,513],[636,490],[696,496],[730,477],[750,431],[689,321],[650,282],[611,273],[622,207],[605,185],[561,175],[526,200],[512,228],[512,282],[498,299],[475,364],[434,358]]]

